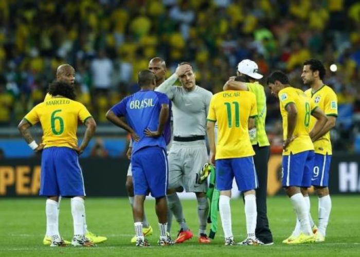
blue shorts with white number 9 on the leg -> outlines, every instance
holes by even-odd
[[[311,185],[317,187],[329,186],[331,155],[315,154]]]

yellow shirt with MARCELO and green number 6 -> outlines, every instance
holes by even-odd
[[[78,121],[85,123],[90,117],[83,104],[64,97],[52,97],[33,107],[24,119],[31,125],[41,123],[45,148],[74,148],[78,145]]]

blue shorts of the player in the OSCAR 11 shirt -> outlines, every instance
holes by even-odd
[[[253,156],[218,159],[215,166],[215,186],[218,190],[230,190],[234,177],[241,192],[257,189],[259,186]]]

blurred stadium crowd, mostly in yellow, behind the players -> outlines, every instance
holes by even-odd
[[[106,123],[107,109],[138,90],[137,72],[155,56],[169,75],[179,62],[192,63],[197,84],[213,93],[242,59],[257,62],[265,78],[282,69],[300,88],[304,60],[335,63],[325,79],[339,103],[334,149],[352,150],[360,135],[356,0],[2,0],[0,125],[16,125],[43,101],[63,63],[76,68],[78,100]],[[281,149],[278,102],[267,94],[268,136]]]

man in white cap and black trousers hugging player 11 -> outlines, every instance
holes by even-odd
[[[264,87],[256,81],[263,76],[258,73],[258,65],[248,59],[238,64],[237,75],[245,75],[247,83],[235,81],[235,77],[231,77],[224,85],[224,90],[245,90],[253,92],[256,96],[258,116],[255,118],[255,128],[249,131],[255,151],[255,169],[259,179],[259,188],[256,190],[258,216],[255,234],[265,245],[272,245],[273,235],[269,229],[266,213],[267,162],[270,156],[270,143],[265,132],[266,96]]]

